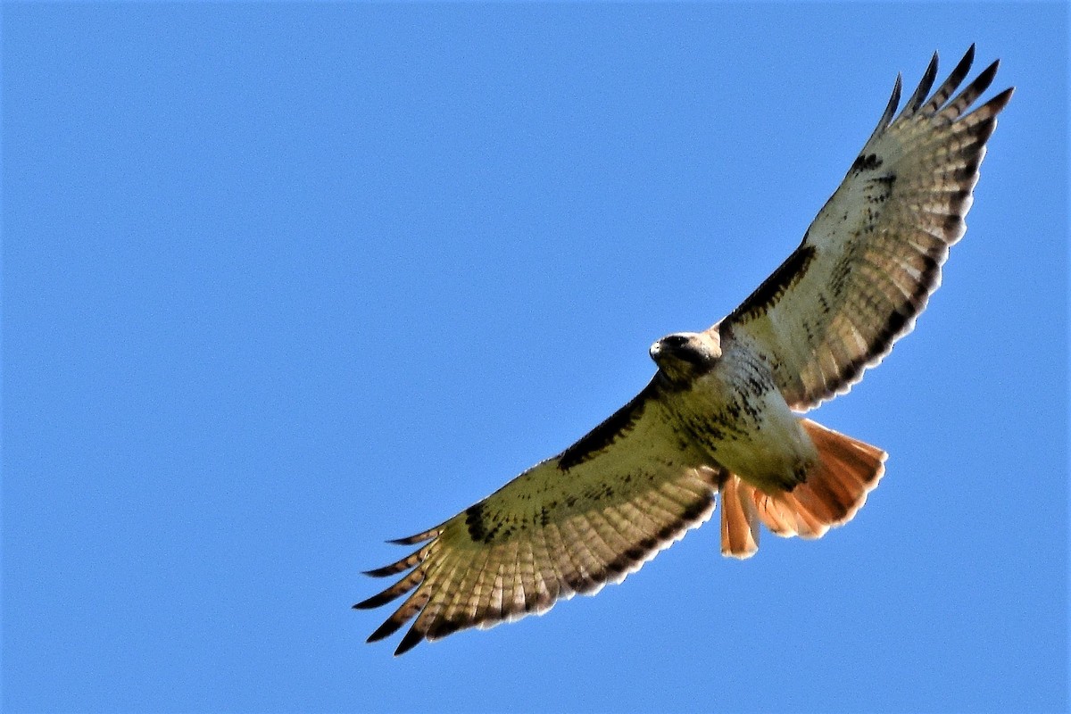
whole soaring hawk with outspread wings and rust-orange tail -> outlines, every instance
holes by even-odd
[[[955,94],[974,57],[971,45],[931,94],[935,52],[899,115],[897,75],[799,247],[709,330],[655,341],[658,371],[635,398],[479,503],[394,541],[419,548],[367,575],[405,575],[353,607],[408,596],[368,641],[416,618],[398,655],[592,594],[705,522],[715,495],[722,553],[736,558],[758,549],[760,523],[817,538],[851,520],[886,454],[799,414],[847,392],[911,331],[966,230],[1013,91],[968,111],[998,65]]]

